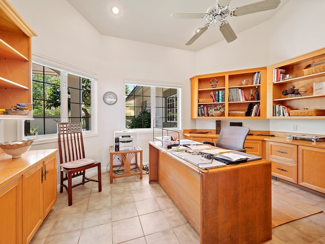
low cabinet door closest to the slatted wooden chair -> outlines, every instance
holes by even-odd
[[[56,202],[56,157],[44,162],[43,192],[45,218]]]

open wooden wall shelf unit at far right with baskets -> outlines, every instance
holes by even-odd
[[[325,118],[324,68],[325,48],[268,67],[268,117],[284,118],[286,107],[285,118]]]

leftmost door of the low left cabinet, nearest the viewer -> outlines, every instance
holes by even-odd
[[[21,243],[21,177],[0,189],[0,242]]]

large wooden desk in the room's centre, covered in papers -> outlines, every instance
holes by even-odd
[[[149,142],[149,182],[158,181],[201,243],[264,243],[272,238],[271,163],[258,160],[203,173]]]

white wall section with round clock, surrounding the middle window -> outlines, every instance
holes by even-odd
[[[114,37],[101,37],[99,118],[102,145],[102,162],[109,162],[108,150],[113,145],[114,131],[125,128],[123,79],[136,79],[183,84],[183,104],[190,104],[189,75],[194,70],[194,52],[134,42]],[[113,106],[101,99],[109,90],[118,96]],[[183,106],[183,117],[190,116],[190,107]],[[184,120],[184,128],[190,126]],[[137,135],[137,144],[143,149],[143,162],[148,162],[148,141],[152,131]]]

